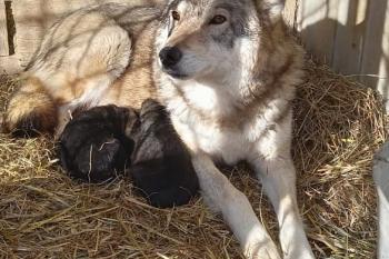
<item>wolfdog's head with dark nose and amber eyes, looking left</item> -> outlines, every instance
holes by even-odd
[[[158,63],[174,79],[226,78],[255,66],[282,0],[172,0],[157,37]],[[263,39],[262,39],[263,38]]]

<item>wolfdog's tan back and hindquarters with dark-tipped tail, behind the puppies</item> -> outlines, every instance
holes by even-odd
[[[138,106],[153,97],[152,43],[162,9],[158,2],[92,6],[57,21],[9,103],[8,130],[57,127],[59,133],[69,112],[80,107]]]

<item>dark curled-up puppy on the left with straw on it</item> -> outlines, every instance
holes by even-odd
[[[71,177],[90,182],[114,178],[130,162],[134,141],[126,131],[138,122],[133,110],[116,106],[80,112],[60,137],[63,168]]]

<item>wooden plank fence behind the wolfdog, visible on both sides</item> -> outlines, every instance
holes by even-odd
[[[0,71],[26,67],[54,18],[97,2],[0,0]],[[286,0],[285,17],[318,60],[389,99],[389,0]]]

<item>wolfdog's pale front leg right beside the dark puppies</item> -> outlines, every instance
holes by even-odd
[[[239,240],[245,256],[252,259],[279,259],[277,247],[259,222],[247,197],[213,165],[207,155],[193,155],[200,189],[211,209],[220,211]]]

